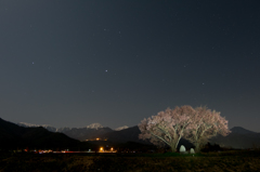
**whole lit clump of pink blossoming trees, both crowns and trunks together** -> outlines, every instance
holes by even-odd
[[[207,107],[193,108],[192,106],[177,106],[167,108],[156,116],[144,118],[139,124],[139,138],[150,140],[157,146],[168,145],[172,151],[184,137],[195,145],[199,151],[202,145],[217,134],[227,135],[227,120],[220,113]]]

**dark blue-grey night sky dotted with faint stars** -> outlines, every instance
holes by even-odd
[[[115,129],[207,105],[260,132],[259,0],[1,0],[0,118]]]

